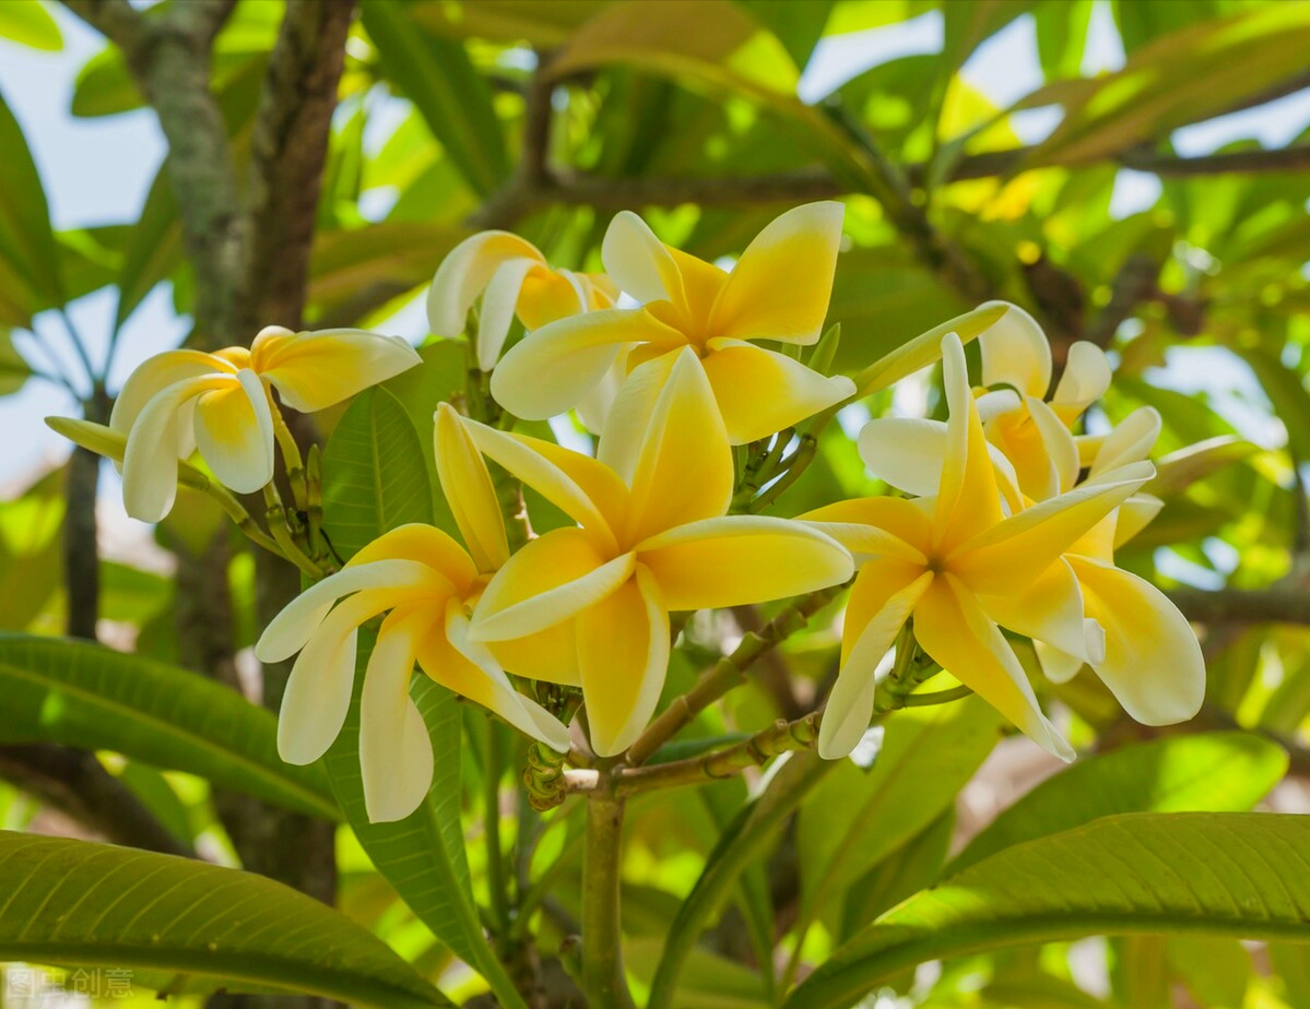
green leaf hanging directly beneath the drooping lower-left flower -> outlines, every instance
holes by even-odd
[[[375,635],[359,632],[355,695],[346,724],[324,759],[346,819],[373,865],[410,910],[456,955],[482,974],[502,1004],[524,1009],[514,983],[482,933],[473,903],[460,823],[461,705],[448,690],[417,675],[411,694],[432,739],[435,772],[427,800],[409,817],[369,823],[359,771],[359,696]]]

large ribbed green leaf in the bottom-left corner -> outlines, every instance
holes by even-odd
[[[254,873],[0,831],[0,961],[113,967],[169,991],[452,1005],[371,932]]]

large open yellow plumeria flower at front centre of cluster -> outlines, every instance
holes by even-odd
[[[726,516],[732,453],[690,349],[650,417],[641,431],[616,429],[618,441],[607,431],[599,459],[461,421],[486,457],[579,523],[533,539],[500,568],[473,611],[470,637],[499,649],[536,636],[511,666],[521,675],[575,669],[603,756],[626,750],[655,709],[669,611],[783,598],[852,572],[848,551],[816,529]]]

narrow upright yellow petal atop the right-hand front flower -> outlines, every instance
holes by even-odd
[[[946,421],[946,465],[933,513],[933,539],[950,551],[1001,521],[996,471],[969,391],[964,347],[954,332],[942,338],[942,378],[950,417]]]

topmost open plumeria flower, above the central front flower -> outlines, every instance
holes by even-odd
[[[749,340],[819,339],[841,243],[840,203],[811,203],[769,224],[731,274],[664,245],[627,211],[605,233],[601,259],[642,304],[559,319],[512,347],[491,394],[517,416],[544,420],[578,406],[618,361],[626,414],[648,416],[662,381],[690,347],[714,390],[728,440],[764,438],[855,391]],[[652,374],[638,378],[638,373]],[[637,393],[645,394],[637,398]]]

